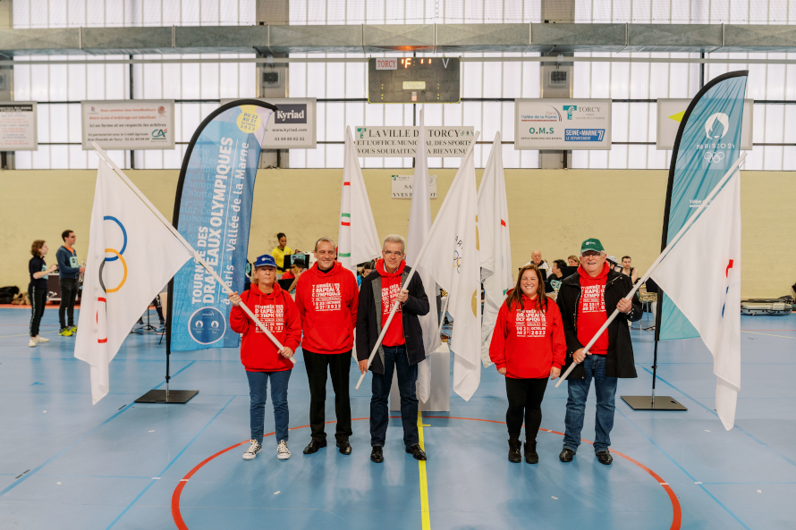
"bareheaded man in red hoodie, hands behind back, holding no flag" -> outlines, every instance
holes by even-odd
[[[315,243],[315,265],[299,277],[296,306],[301,315],[304,366],[309,378],[309,426],[312,441],[304,448],[309,455],[326,447],[324,414],[326,370],[332,375],[337,429],[334,438],[343,455],[351,454],[351,401],[348,395],[351,350],[357,323],[359,290],[353,273],[335,259],[334,241]]]

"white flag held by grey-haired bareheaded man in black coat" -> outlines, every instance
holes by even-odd
[[[464,400],[470,400],[481,380],[481,277],[476,215],[476,170],[470,151],[445,195],[419,263],[448,291],[448,311],[453,315],[453,391]]]

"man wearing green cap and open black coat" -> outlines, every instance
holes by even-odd
[[[610,433],[614,427],[614,396],[620,377],[636,377],[633,345],[627,322],[641,318],[641,304],[635,296],[632,301],[624,297],[632,290],[629,276],[611,270],[605,263],[605,248],[600,240],[589,238],[580,245],[578,273],[563,281],[555,300],[561,309],[563,331],[567,342],[566,364],[578,366],[567,378],[569,399],[564,423],[566,433],[563,450],[558,458],[572,462],[580,445],[580,431],[586,413],[586,398],[594,380],[597,394],[594,451],[601,464],[611,464],[608,451]],[[608,315],[619,309],[619,315],[608,325],[588,354],[586,344],[608,320]]]

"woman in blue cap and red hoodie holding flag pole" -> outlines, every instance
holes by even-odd
[[[243,458],[255,458],[263,448],[263,430],[266,417],[266,395],[268,380],[271,380],[271,402],[274,404],[276,425],[276,457],[280,460],[290,458],[287,449],[288,422],[287,383],[293,367],[291,357],[301,342],[301,318],[299,310],[290,294],[276,283],[276,263],[274,257],[266,254],[254,263],[254,278],[249,290],[241,296],[230,293],[233,303],[230,313],[230,327],[243,334],[241,342],[241,363],[249,378],[251,445]],[[249,315],[241,309],[246,304],[266,329],[273,333],[284,348],[276,349]]]

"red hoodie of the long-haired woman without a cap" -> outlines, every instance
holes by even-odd
[[[561,311],[552,299],[547,299],[546,311],[539,311],[537,300],[524,294],[521,300],[522,307],[509,309],[508,300],[500,307],[489,358],[512,379],[548,377],[550,368],[561,368],[566,358]]]

